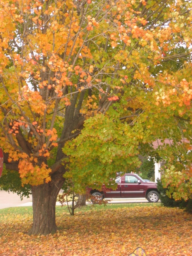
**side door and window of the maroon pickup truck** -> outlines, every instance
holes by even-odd
[[[134,175],[125,175],[121,183],[121,197],[134,198],[144,197],[144,185],[139,184],[138,178]]]

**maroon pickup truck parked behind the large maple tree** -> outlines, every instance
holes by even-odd
[[[147,182],[137,174],[124,174],[115,179],[117,189],[90,190],[90,194],[102,200],[103,198],[138,198],[145,197],[149,202],[158,202],[159,193],[155,182]]]

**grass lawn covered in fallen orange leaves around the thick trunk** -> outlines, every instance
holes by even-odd
[[[141,246],[148,256],[192,256],[192,215],[177,208],[136,206],[59,211],[60,231],[28,236],[31,211],[0,216],[1,256],[128,256]]]

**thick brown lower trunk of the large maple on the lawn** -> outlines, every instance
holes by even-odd
[[[56,232],[55,205],[60,187],[52,181],[32,186],[33,225],[28,234],[47,235]]]

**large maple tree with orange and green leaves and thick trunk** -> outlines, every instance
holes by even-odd
[[[102,184],[138,166],[156,138],[190,141],[191,8],[1,0],[0,146],[6,173],[31,186],[30,234],[56,232],[67,170],[81,187]]]

